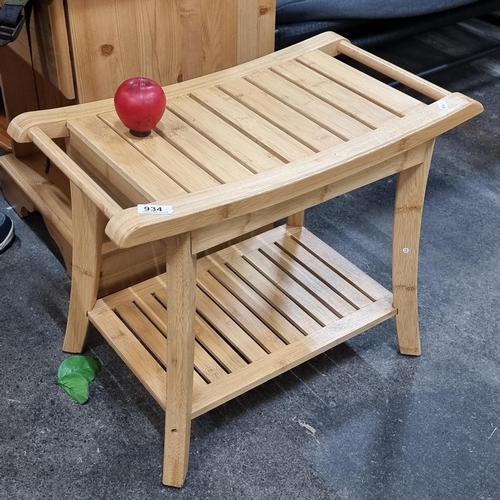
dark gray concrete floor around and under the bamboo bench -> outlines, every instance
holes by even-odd
[[[389,52],[413,64],[410,49]],[[55,385],[70,282],[41,218],[19,219],[0,196],[17,232],[0,256],[0,498],[500,498],[499,74],[490,58],[432,78],[485,112],[437,141],[422,356],[398,354],[389,321],[199,417],[181,490],[161,484],[162,411],[95,331],[87,354],[102,370],[89,403]],[[307,214],[386,286],[394,182]]]

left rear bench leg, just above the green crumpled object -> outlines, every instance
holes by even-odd
[[[104,214],[73,184],[71,185],[73,218],[73,262],[68,323],[63,350],[80,353],[85,347],[90,311],[97,300],[101,270]]]

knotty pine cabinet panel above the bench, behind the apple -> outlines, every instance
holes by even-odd
[[[132,76],[167,85],[274,46],[274,0],[67,0],[67,16],[79,102],[111,97]]]

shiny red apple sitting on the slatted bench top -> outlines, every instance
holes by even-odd
[[[130,133],[145,137],[161,120],[167,98],[154,80],[135,77],[120,84],[114,102],[118,117],[130,129]]]

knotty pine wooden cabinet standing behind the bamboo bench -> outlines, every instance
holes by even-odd
[[[25,28],[15,42],[0,48],[0,148],[12,151],[0,156],[0,184],[20,215],[35,209],[43,215],[68,271],[72,227],[67,179],[56,168],[47,173],[45,158],[32,145],[10,143],[5,132],[9,122],[25,111],[112,97],[118,85],[133,76],[153,78],[165,86],[270,53],[275,4],[34,0],[31,54]],[[109,261],[103,250],[113,288],[119,266],[114,265],[113,251],[107,254]]]

